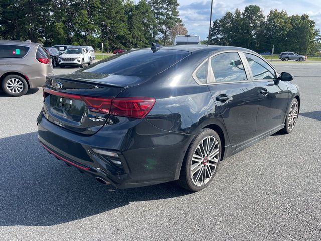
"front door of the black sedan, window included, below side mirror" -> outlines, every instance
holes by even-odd
[[[277,81],[276,71],[261,57],[244,53],[251,78],[260,93],[260,107],[256,119],[255,136],[269,133],[284,123],[288,105],[285,82]]]

